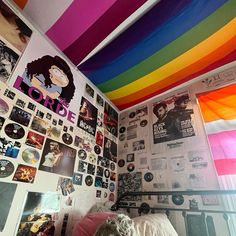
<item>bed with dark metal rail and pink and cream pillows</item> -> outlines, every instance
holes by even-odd
[[[178,200],[177,205],[182,201],[185,196],[215,196],[226,197],[224,195],[235,195],[236,190],[199,190],[199,191],[164,191],[164,192],[127,192],[120,196],[116,203],[107,202],[95,204],[90,212],[80,221],[75,227],[72,236],[93,236],[96,229],[103,224],[108,218],[115,217],[117,214],[128,214],[131,209],[138,210],[140,216],[132,218],[137,236],[176,236],[178,235],[172,226],[168,216],[170,211],[179,212],[182,215],[184,222],[183,226],[185,231],[181,235],[191,236],[209,236],[209,235],[235,235],[232,233],[230,226],[233,217],[236,216],[236,211],[233,209],[215,209],[205,207],[199,208],[163,208],[163,207],[150,207],[147,203],[141,203],[139,206],[123,205],[127,196],[151,196],[151,195],[168,195],[175,196],[175,201]],[[181,198],[180,198],[181,196]],[[124,210],[125,209],[125,210]],[[164,212],[164,213],[157,213]],[[220,214],[221,221],[216,222],[215,226],[224,226],[224,233],[218,233],[215,230],[213,217],[210,214]],[[222,217],[223,216],[223,217]],[[230,216],[230,217],[229,217]]]

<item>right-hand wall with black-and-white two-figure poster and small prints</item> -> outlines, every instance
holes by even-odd
[[[124,111],[119,124],[118,196],[127,191],[218,188],[192,87]],[[215,196],[212,199],[216,202]],[[130,202],[123,204],[133,206],[141,197],[125,200]],[[159,207],[201,207],[206,203],[200,196],[161,195],[142,200]]]

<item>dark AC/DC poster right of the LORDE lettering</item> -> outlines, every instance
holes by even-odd
[[[95,136],[98,109],[86,98],[82,97],[77,126]]]

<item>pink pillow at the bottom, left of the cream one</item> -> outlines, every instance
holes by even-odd
[[[89,213],[76,224],[72,236],[92,236],[100,225],[115,215],[112,212]]]

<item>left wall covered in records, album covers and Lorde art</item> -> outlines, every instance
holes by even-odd
[[[116,198],[118,113],[29,32],[25,50],[0,41],[0,235],[70,235],[92,205]]]

